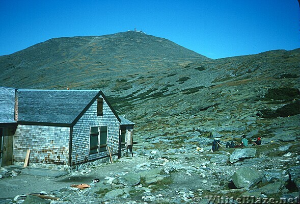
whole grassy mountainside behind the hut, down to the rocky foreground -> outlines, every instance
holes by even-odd
[[[143,136],[220,125],[241,134],[257,128],[242,118],[292,103],[264,100],[268,92],[299,98],[299,59],[300,49],[211,60],[137,32],[56,38],[1,56],[0,86],[102,89]]]

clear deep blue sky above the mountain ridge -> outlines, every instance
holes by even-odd
[[[137,28],[212,59],[299,47],[297,0],[0,0],[0,55]]]

